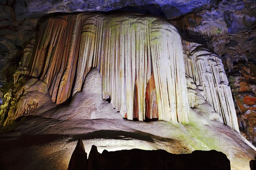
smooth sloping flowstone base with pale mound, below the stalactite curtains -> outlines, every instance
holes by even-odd
[[[99,83],[100,86],[100,83]],[[165,121],[140,122],[122,118],[102,99],[101,88],[78,92],[69,105],[46,104],[0,129],[0,169],[64,170],[79,138],[85,151],[163,149],[169,153],[217,150],[227,155],[231,168],[248,170],[255,147],[221,122],[207,105],[189,110],[189,125]]]

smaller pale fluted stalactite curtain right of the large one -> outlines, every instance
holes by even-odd
[[[192,107],[195,106],[193,103],[197,104],[193,90],[203,90],[204,99],[220,114],[224,124],[239,132],[236,110],[221,58],[201,44],[184,41],[183,45],[189,103]]]

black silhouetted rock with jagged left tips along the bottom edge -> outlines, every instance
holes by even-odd
[[[80,139],[79,139],[80,141]],[[100,154],[96,146],[92,146],[88,160],[84,161],[84,154],[72,154],[70,162],[76,161],[76,170],[230,170],[230,161],[224,153],[210,150],[196,150],[190,154],[175,155],[165,150],[117,150]],[[87,162],[87,168],[82,168]],[[79,166],[80,165],[80,166]],[[69,170],[75,170],[70,168]]]

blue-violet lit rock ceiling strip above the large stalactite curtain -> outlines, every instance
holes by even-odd
[[[32,15],[43,15],[53,12],[83,12],[83,11],[125,11],[143,12],[161,17],[173,18],[200,10],[217,6],[218,0],[16,0],[15,14],[18,18]]]

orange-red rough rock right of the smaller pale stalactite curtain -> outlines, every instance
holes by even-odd
[[[245,137],[256,143],[256,82],[253,62],[238,62],[227,71],[232,89],[239,128],[246,133]]]

